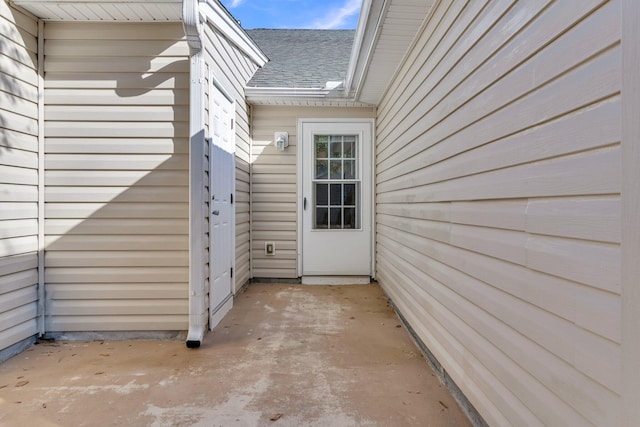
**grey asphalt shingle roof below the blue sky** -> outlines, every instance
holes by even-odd
[[[354,30],[248,30],[269,58],[250,87],[321,88],[344,80]]]

